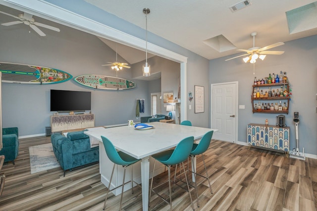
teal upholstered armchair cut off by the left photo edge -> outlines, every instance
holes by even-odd
[[[4,162],[14,160],[19,153],[19,130],[17,127],[2,128],[2,150],[0,155],[5,156]]]

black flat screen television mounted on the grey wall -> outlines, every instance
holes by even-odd
[[[91,92],[51,89],[51,111],[91,110]]]

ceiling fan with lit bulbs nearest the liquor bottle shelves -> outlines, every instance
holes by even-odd
[[[283,51],[266,51],[268,49],[272,49],[272,48],[284,45],[284,43],[282,43],[282,42],[278,42],[278,43],[275,43],[275,44],[272,44],[272,45],[269,45],[269,46],[266,46],[263,48],[255,47],[255,36],[256,35],[257,35],[256,32],[251,33],[251,36],[253,37],[253,48],[248,49],[248,50],[239,49],[237,51],[246,52],[246,54],[238,55],[238,56],[235,56],[233,58],[238,58],[238,57],[247,55],[246,57],[243,58],[243,61],[246,63],[247,62],[255,63],[257,61],[257,58],[264,60],[266,54],[280,55],[280,54],[284,53]],[[228,58],[225,61],[231,60],[233,58]]]

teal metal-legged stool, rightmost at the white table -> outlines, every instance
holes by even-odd
[[[209,188],[210,188],[210,192],[212,194],[212,190],[211,190],[211,184],[210,184],[210,180],[209,180],[209,175],[208,175],[208,171],[207,171],[207,168],[206,168],[206,163],[205,163],[205,159],[204,159],[204,153],[208,150],[209,146],[210,146],[210,142],[211,142],[211,138],[212,138],[212,134],[213,134],[213,131],[208,131],[203,137],[202,139],[200,140],[199,144],[193,144],[193,148],[192,148],[192,151],[189,155],[189,157],[191,158],[191,161],[192,161],[192,169],[195,169],[195,165],[194,165],[194,157],[195,156],[198,156],[198,155],[202,155],[202,158],[203,158],[203,163],[204,163],[204,167],[205,167],[205,171],[206,171],[206,176],[203,176],[201,174],[198,174],[197,173],[197,170],[196,172],[193,172],[193,171],[190,171],[188,170],[188,163],[187,163],[187,172],[191,172],[191,173],[194,173],[194,178],[195,178],[195,189],[196,189],[196,196],[197,196],[197,206],[199,207],[199,202],[198,202],[198,191],[197,191],[197,180],[196,180],[196,176],[201,176],[203,178],[205,178],[205,180],[207,179],[208,180],[208,183],[209,183]],[[175,182],[175,179],[176,179],[176,169],[177,169],[177,165],[175,166],[175,175],[174,175],[174,182]],[[185,171],[184,171],[185,172]],[[180,172],[181,174],[181,172]],[[186,174],[185,174],[186,175]],[[179,179],[181,180],[181,179]],[[173,189],[174,189],[174,186],[173,186]]]

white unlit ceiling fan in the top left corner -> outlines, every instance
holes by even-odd
[[[15,24],[24,23],[25,25],[29,25],[40,36],[46,36],[46,34],[44,34],[44,32],[42,32],[42,30],[39,29],[38,26],[44,27],[44,28],[47,28],[47,29],[51,29],[51,30],[56,31],[56,32],[60,31],[56,27],[49,26],[49,25],[46,25],[46,24],[43,24],[43,23],[35,22],[34,18],[32,17],[33,15],[30,14],[30,13],[24,12],[24,14],[19,14],[18,16],[14,16],[14,15],[11,15],[9,13],[2,12],[2,11],[0,11],[0,13],[5,14],[5,15],[9,15],[9,16],[14,17],[16,19],[19,19],[17,21],[1,23],[1,25],[3,25],[3,26],[12,26],[12,25],[15,25]]]

